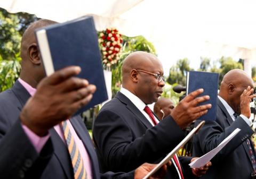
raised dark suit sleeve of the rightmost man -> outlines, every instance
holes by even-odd
[[[241,131],[239,131],[236,136],[231,139],[229,143],[212,159],[213,162],[220,162],[221,160],[225,160],[225,157],[228,156],[230,152],[233,152],[253,134],[253,130],[242,117],[238,117],[230,126],[225,128],[222,127],[224,125],[220,125],[220,123],[221,121],[219,120],[207,121],[199,133],[195,135],[194,149],[196,156],[200,153],[200,155],[206,154],[217,147],[236,128],[241,129]]]

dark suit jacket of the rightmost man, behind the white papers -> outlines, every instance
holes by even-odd
[[[246,139],[250,138],[253,130],[242,117],[233,121],[219,99],[217,120],[207,121],[199,133],[195,135],[193,153],[194,156],[198,157],[206,154],[217,147],[236,128],[241,129],[241,131],[212,159],[212,166],[202,178],[251,178],[253,169]],[[255,155],[254,149],[253,152]]]

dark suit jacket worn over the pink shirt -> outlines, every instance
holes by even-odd
[[[68,149],[54,129],[40,154],[23,131],[19,114],[29,97],[19,81],[0,93],[0,178],[74,178]],[[70,122],[90,156],[93,178],[133,178],[133,172],[100,175],[97,155],[81,117]]]

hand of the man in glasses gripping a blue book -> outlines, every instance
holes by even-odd
[[[180,103],[173,109],[171,116],[173,120],[183,129],[188,124],[196,120],[198,117],[207,113],[207,109],[212,107],[211,104],[197,106],[199,103],[209,100],[209,96],[197,97],[203,93],[203,89],[198,89],[189,93]]]

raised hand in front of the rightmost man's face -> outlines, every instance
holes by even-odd
[[[253,88],[250,86],[247,87],[240,96],[240,109],[241,114],[245,115],[247,118],[251,116],[250,102],[252,98],[255,98],[256,95],[253,94]]]

